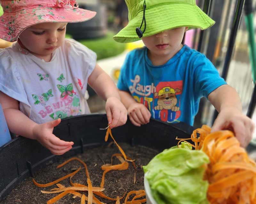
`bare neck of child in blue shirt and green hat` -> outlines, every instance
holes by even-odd
[[[180,44],[180,46],[178,46],[176,49],[172,50],[170,53],[166,55],[157,55],[148,49],[148,58],[150,59],[154,66],[161,66],[166,64],[174,55],[176,55],[181,50],[182,47],[183,45]]]

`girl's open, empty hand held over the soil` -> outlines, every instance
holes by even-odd
[[[43,124],[37,124],[33,128],[35,139],[55,155],[64,154],[70,150],[74,144],[74,142],[65,142],[60,140],[60,138],[52,134],[53,128],[59,125],[60,121],[61,120],[58,119]]]

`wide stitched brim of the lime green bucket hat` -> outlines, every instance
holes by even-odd
[[[136,34],[136,27],[140,27],[143,11],[132,18],[113,38],[117,42],[128,43],[140,40]],[[177,27],[207,29],[215,21],[207,16],[198,6],[191,4],[164,4],[147,8],[145,12],[146,31],[143,37],[148,37],[165,30]],[[144,29],[144,23],[141,30]]]

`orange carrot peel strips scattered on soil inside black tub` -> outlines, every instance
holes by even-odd
[[[87,177],[87,186],[84,185],[84,184],[79,184],[79,183],[73,183],[72,182],[72,178],[76,175],[76,173],[78,171],[81,170],[81,167],[79,167],[76,171],[74,171],[74,172],[72,172],[72,173],[70,173],[66,176],[63,176],[60,179],[57,179],[57,180],[52,181],[50,183],[47,183],[47,184],[39,184],[33,178],[34,184],[38,187],[43,188],[43,187],[53,186],[54,184],[57,185],[58,188],[53,188],[53,189],[51,189],[51,191],[41,191],[42,193],[47,193],[47,194],[49,194],[49,193],[60,193],[57,196],[53,197],[52,199],[48,200],[47,204],[55,203],[67,194],[73,194],[74,195],[73,198],[76,198],[76,197],[81,198],[81,204],[85,204],[86,201],[87,201],[88,204],[92,204],[92,203],[94,203],[94,204],[104,204],[99,199],[97,199],[95,197],[95,195],[97,195],[98,197],[104,198],[104,199],[116,201],[116,204],[120,204],[120,200],[124,198],[126,192],[124,193],[123,196],[117,196],[116,198],[110,198],[107,195],[105,195],[103,193],[103,191],[105,190],[105,188],[104,188],[105,175],[108,171],[111,171],[111,170],[119,170],[120,171],[120,170],[128,169],[128,167],[129,167],[128,162],[132,163],[132,165],[133,165],[133,167],[136,171],[136,165],[134,163],[134,160],[132,160],[130,157],[127,157],[125,155],[123,149],[116,143],[116,141],[115,141],[115,139],[114,139],[114,137],[111,133],[111,129],[109,127],[107,129],[107,133],[106,133],[106,136],[105,136],[105,141],[106,142],[108,140],[108,135],[111,136],[111,138],[115,142],[115,144],[118,147],[121,154],[118,153],[118,154],[112,155],[111,164],[104,164],[104,165],[101,166],[101,169],[103,170],[103,174],[102,174],[100,187],[92,186],[92,182],[91,182],[90,175],[89,175],[86,164],[81,159],[79,159],[77,157],[73,157],[73,158],[68,159],[64,163],[60,164],[59,166],[57,166],[57,169],[64,166],[65,164],[68,164],[71,161],[80,162],[84,166],[84,169],[85,169],[85,174],[86,174],[86,177]],[[121,162],[121,164],[113,165],[112,164],[113,157],[116,157]],[[59,183],[60,181],[62,181],[64,179],[67,179],[67,178],[70,179],[70,185],[71,186],[66,187],[66,186],[63,186]],[[84,193],[79,193],[77,191],[80,191],[80,192],[88,191],[88,196],[86,196]],[[130,196],[133,195],[133,194],[135,194],[135,196],[132,198],[131,201],[128,201]],[[142,204],[142,203],[145,203],[146,199],[143,198],[143,197],[145,197],[145,195],[146,195],[146,193],[145,193],[144,190],[130,191],[129,193],[127,193],[123,204]]]

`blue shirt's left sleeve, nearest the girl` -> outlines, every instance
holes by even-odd
[[[129,76],[129,62],[131,59],[130,57],[131,53],[128,53],[126,55],[126,58],[124,60],[124,64],[123,66],[121,67],[121,71],[120,71],[120,75],[118,77],[118,82],[117,82],[117,88],[121,91],[127,91],[129,92],[129,87],[128,87],[128,84],[127,84],[127,78]]]

